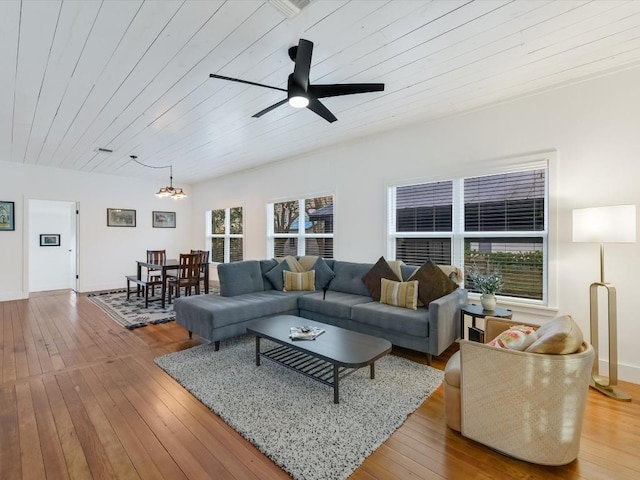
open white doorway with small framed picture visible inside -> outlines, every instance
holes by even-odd
[[[78,291],[77,204],[29,200],[29,292]]]

